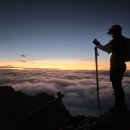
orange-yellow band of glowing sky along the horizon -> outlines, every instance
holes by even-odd
[[[60,70],[95,70],[94,61],[75,60],[37,60],[33,62],[1,61],[2,69],[60,69]],[[109,70],[108,64],[99,64],[99,70]],[[127,63],[127,70],[130,70],[130,63]]]

